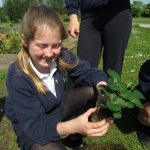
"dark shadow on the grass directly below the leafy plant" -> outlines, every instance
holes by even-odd
[[[124,134],[129,134],[136,131],[136,118],[130,109],[122,110],[122,118],[115,119],[114,123],[117,128]]]

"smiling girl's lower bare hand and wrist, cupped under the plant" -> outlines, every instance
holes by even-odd
[[[89,116],[94,113],[96,109],[97,107],[91,108],[75,119],[58,123],[56,127],[57,132],[60,135],[80,133],[86,136],[103,136],[113,121],[110,123],[106,122],[106,120],[89,122]]]

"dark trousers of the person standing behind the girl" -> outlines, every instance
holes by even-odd
[[[110,10],[96,17],[83,19],[77,55],[97,68],[102,54],[104,72],[107,74],[107,70],[112,69],[121,75],[131,28],[132,15],[129,9]]]

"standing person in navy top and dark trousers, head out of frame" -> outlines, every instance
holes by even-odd
[[[129,0],[65,0],[70,24],[68,32],[78,37],[77,55],[98,67],[103,57],[103,71],[121,75],[125,49],[132,29]],[[78,21],[81,12],[81,25]],[[103,51],[102,51],[102,48]]]

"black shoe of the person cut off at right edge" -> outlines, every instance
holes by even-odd
[[[150,147],[150,126],[145,126],[138,122],[137,136],[142,144],[144,144],[147,147]]]

